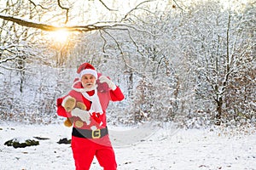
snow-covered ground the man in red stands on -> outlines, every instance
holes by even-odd
[[[119,170],[256,170],[256,133],[243,134],[219,129],[177,130],[157,128],[109,127]],[[9,139],[39,140],[38,146],[13,148]],[[70,144],[57,144],[71,138],[71,128],[61,124],[24,125],[0,123],[1,170],[74,169]],[[96,160],[92,170],[102,169]]]

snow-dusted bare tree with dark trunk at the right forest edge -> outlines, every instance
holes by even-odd
[[[212,106],[216,109],[215,123],[220,125],[220,122],[227,121],[224,120],[224,115],[232,112],[225,109],[226,101],[230,101],[231,97],[228,94],[230,82],[235,81],[243,67],[252,62],[245,54],[252,51],[253,44],[251,40],[241,41],[244,38],[241,34],[243,19],[233,17],[236,16],[235,11],[220,11],[219,6],[212,3],[197,8],[201,8],[200,12],[192,9],[195,11],[195,20],[192,19],[193,16],[189,20],[191,41],[188,52],[195,61],[192,61],[193,65],[197,67],[196,92],[201,99],[212,99]],[[204,12],[201,13],[202,11]],[[210,11],[211,14],[206,15]],[[210,106],[208,108],[211,109]]]

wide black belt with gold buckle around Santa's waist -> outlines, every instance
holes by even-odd
[[[108,127],[96,130],[82,129],[73,127],[72,135],[85,139],[100,139],[108,134]]]

